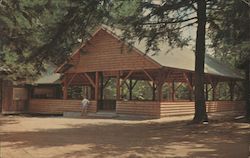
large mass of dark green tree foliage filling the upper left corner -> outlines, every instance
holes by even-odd
[[[18,79],[39,74],[44,63],[61,64],[105,22],[111,6],[109,0],[1,0],[0,66]]]

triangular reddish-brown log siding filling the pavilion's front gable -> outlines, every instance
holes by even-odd
[[[122,46],[121,41],[104,30],[100,30],[83,50],[79,63],[66,73],[160,68],[159,65],[147,60],[144,55],[130,50],[125,45]]]

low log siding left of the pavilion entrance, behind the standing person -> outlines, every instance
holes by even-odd
[[[30,113],[63,114],[63,112],[79,111],[81,111],[80,100],[31,99],[29,104]],[[88,112],[96,111],[96,101],[90,101]]]

